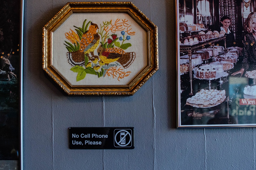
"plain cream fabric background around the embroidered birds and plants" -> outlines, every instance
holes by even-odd
[[[130,75],[124,77],[120,81],[112,76],[106,75],[105,77],[98,78],[97,75],[86,74],[83,80],[76,81],[77,73],[74,73],[70,69],[73,67],[67,60],[67,48],[65,47],[65,41],[68,41],[65,37],[66,32],[71,32],[70,29],[75,31],[75,27],[82,27],[84,20],[97,24],[100,28],[100,24],[103,22],[112,20],[112,23],[117,19],[126,19],[128,24],[131,25],[132,30],[135,31],[135,35],[131,35],[129,41],[124,43],[131,43],[132,46],[127,48],[125,52],[135,52],[135,60],[127,68],[125,72],[131,71]],[[89,24],[90,25],[90,24]],[[98,31],[98,30],[97,30]],[[124,30],[125,31],[125,30]],[[75,31],[76,32],[76,31]],[[109,31],[110,35],[112,34]],[[117,37],[122,36],[121,31],[115,32]],[[125,37],[128,34],[125,33]],[[101,39],[100,39],[101,40]],[[119,41],[120,42],[120,41]],[[53,32],[53,66],[63,75],[72,85],[128,85],[146,66],[148,62],[148,40],[146,31],[140,27],[128,14],[125,13],[74,13],[72,14],[56,31]],[[100,45],[100,44],[99,44]],[[94,51],[94,55],[97,55],[97,49]],[[85,67],[84,67],[85,68]],[[100,70],[99,70],[100,71]]]

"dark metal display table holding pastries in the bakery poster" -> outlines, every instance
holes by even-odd
[[[184,45],[184,44],[180,44],[179,45],[179,51],[180,52],[187,52],[188,56],[189,56],[189,83],[190,83],[190,93],[189,95],[193,95],[193,87],[192,87],[192,81],[193,81],[193,76],[192,76],[192,52],[204,47],[208,47],[208,46],[212,46],[213,47],[213,55],[214,54],[214,43],[224,40],[225,41],[225,49],[226,49],[226,36],[223,37],[218,37],[218,38],[214,38],[214,39],[209,39],[207,41],[204,42],[199,42],[197,44],[193,44],[193,45]]]

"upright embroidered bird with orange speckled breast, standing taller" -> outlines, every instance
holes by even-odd
[[[100,36],[96,32],[99,29],[97,24],[91,22],[91,25],[87,31],[85,31],[79,42],[80,50],[76,52],[67,53],[68,61],[72,66],[84,65],[84,56],[88,56],[89,60],[93,63],[97,63],[98,56],[94,55],[94,50],[98,47],[100,42]],[[91,56],[89,55],[91,54]]]

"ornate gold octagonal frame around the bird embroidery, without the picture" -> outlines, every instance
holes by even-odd
[[[147,66],[128,85],[74,86],[53,67],[53,32],[73,13],[128,14],[147,33]],[[68,95],[133,95],[158,70],[158,30],[131,2],[69,2],[43,27],[43,70]]]

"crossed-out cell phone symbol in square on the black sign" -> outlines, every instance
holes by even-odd
[[[118,131],[119,130],[119,131]],[[130,132],[128,132],[128,131]],[[115,129],[115,147],[131,147],[132,146],[132,136],[130,129]]]

